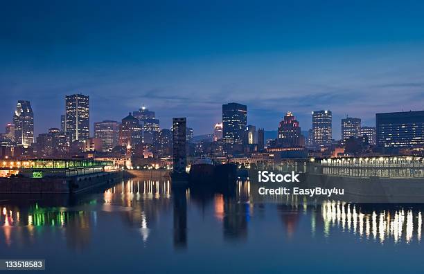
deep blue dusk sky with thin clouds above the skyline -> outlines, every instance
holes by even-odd
[[[84,93],[91,125],[145,104],[206,134],[234,101],[274,130],[330,109],[339,138],[346,114],[423,109],[424,1],[3,1],[0,70],[1,125],[30,100],[36,134]]]

